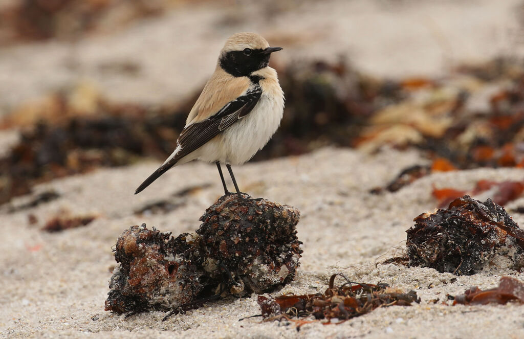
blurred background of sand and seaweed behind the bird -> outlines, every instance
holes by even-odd
[[[284,49],[270,63],[284,119],[252,161],[420,149],[429,165],[388,190],[431,171],[524,167],[522,0],[0,0],[0,203],[163,161],[238,31]]]

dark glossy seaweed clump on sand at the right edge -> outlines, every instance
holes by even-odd
[[[410,266],[473,275],[490,265],[524,266],[524,231],[504,207],[464,195],[448,209],[423,213],[406,232]]]

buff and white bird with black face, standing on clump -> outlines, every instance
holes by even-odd
[[[249,200],[238,189],[231,166],[251,159],[280,126],[284,93],[276,70],[268,66],[271,53],[280,50],[252,32],[228,38],[214,73],[189,112],[176,148],[135,194],[170,168],[196,159],[214,162],[225,195],[234,194],[227,190],[221,168],[225,164],[238,198]]]

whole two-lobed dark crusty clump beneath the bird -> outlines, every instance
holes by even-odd
[[[292,206],[231,194],[206,210],[193,234],[174,238],[145,224],[132,226],[116,243],[118,265],[105,310],[178,312],[285,285],[302,253],[299,216]]]

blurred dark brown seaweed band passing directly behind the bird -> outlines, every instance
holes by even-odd
[[[344,63],[299,63],[279,72],[286,93],[281,126],[254,160],[297,155],[327,144],[352,146],[368,115],[400,94],[388,82],[371,81]],[[342,87],[341,87],[342,86]],[[95,91],[96,92],[96,91]],[[101,94],[88,98],[90,112],[74,105],[82,95],[69,89],[49,95],[40,121],[16,112],[4,127],[24,126],[20,143],[0,159],[0,204],[30,193],[40,182],[84,173],[94,168],[124,166],[145,157],[164,160],[176,148],[196,94],[180,104],[115,104]],[[21,119],[21,121],[20,121]]]

